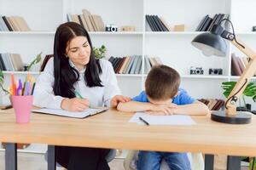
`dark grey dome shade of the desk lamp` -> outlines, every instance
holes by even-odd
[[[227,44],[224,38],[220,37],[218,34],[205,32],[196,36],[191,43],[195,48],[199,48],[206,56],[226,56]]]

